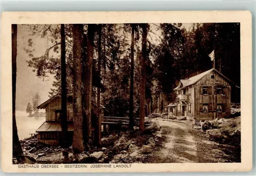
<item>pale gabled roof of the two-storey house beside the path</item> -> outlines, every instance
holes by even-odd
[[[186,85],[184,85],[184,87],[186,87],[186,86],[190,86],[190,85],[193,85],[193,84],[196,84],[198,81],[200,81],[204,76],[206,76],[207,74],[209,74],[210,72],[212,72],[212,71],[216,71],[218,74],[220,74],[222,77],[224,77],[226,80],[228,80],[228,82],[231,82],[232,84],[234,84],[234,85],[236,85],[234,82],[232,82],[230,79],[228,79],[226,76],[224,76],[222,73],[220,73],[218,70],[216,70],[215,68],[212,68],[212,69],[210,69],[210,70],[207,70],[206,72],[202,72],[202,73],[200,73],[200,74],[198,74],[198,75],[196,75],[196,76],[192,76],[191,78],[189,78],[188,80],[180,80],[180,82],[182,82],[182,84],[183,84],[183,82],[184,82],[184,84],[186,84]],[[179,84],[180,85],[180,84]],[[177,90],[177,89],[179,89],[179,86],[178,87],[176,87],[176,88],[174,88],[174,90]]]

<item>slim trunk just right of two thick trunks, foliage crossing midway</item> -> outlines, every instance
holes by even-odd
[[[98,74],[101,72],[101,28],[102,24],[98,25]],[[100,76],[101,77],[101,76]],[[97,88],[97,124],[96,124],[96,145],[101,144],[101,114],[100,114],[100,88]]]

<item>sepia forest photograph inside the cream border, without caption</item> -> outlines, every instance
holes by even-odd
[[[239,23],[13,24],[12,46],[13,164],[241,162]]]

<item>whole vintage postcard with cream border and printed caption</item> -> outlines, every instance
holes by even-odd
[[[3,12],[1,168],[251,170],[250,12]]]

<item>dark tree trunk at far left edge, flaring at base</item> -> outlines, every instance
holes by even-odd
[[[16,125],[17,24],[12,24],[12,156],[24,158]]]

